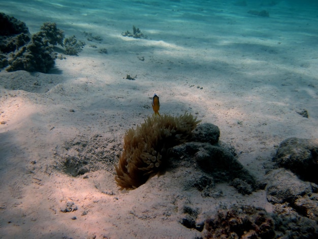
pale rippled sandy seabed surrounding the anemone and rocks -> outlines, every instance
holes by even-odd
[[[95,134],[109,143],[105,150],[119,154],[125,130],[152,114],[154,93],[161,113],[188,111],[217,125],[220,140],[233,145],[258,178],[283,139],[318,135],[318,20],[310,6],[17,2],[1,3],[1,11],[24,21],[31,33],[52,21],[86,46],[79,56],[57,59],[52,74],[0,72],[2,238],[193,238],[201,233],[179,223],[183,205],[198,208],[198,221],[219,205],[270,211],[262,190],[242,196],[217,184],[220,197],[186,192],[178,183],[190,177],[186,171],[153,177],[125,193],[115,184],[113,164],[99,165],[88,178],[53,169],[66,142]],[[270,17],[247,14],[251,9],[267,9]],[[148,39],[122,37],[133,24]],[[87,41],[84,31],[103,41]],[[124,79],[127,74],[136,80]],[[297,113],[303,109],[309,118]],[[68,201],[78,210],[60,212]]]

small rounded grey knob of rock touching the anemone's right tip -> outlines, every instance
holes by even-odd
[[[204,123],[198,125],[197,128],[192,131],[191,141],[215,144],[218,142],[219,136],[220,130],[216,125]]]

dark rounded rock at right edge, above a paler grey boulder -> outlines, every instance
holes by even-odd
[[[273,160],[303,180],[318,183],[318,139],[286,139],[280,143]]]

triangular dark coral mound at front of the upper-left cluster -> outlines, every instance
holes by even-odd
[[[39,32],[31,37],[31,41],[11,54],[7,71],[25,70],[47,73],[54,66],[55,54],[53,45],[46,35]]]

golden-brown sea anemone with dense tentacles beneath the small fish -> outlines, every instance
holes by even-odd
[[[128,130],[116,166],[117,184],[127,189],[144,184],[163,169],[169,149],[189,139],[199,122],[188,113],[179,117],[153,115],[136,129]]]

